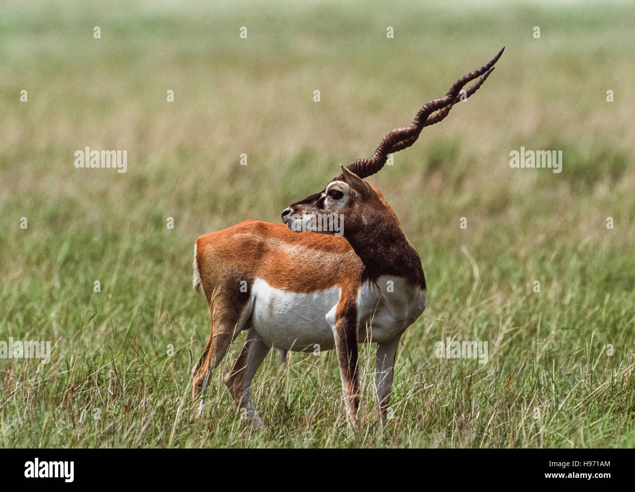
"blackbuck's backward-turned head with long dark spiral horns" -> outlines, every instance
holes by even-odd
[[[357,159],[342,167],[342,173],[333,178],[321,192],[306,197],[283,210],[282,219],[294,232],[310,230],[324,234],[342,236],[361,228],[378,227],[382,223],[399,223],[382,194],[364,181],[367,176],[377,173],[389,156],[406,149],[417,141],[425,126],[439,123],[448,116],[450,109],[474,94],[494,70],[494,64],[505,48],[478,70],[458,79],[440,99],[427,102],[417,112],[415,119],[405,128],[389,131],[375,153],[366,159]],[[463,86],[478,77],[467,90]]]

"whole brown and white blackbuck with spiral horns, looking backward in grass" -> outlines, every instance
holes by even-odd
[[[425,277],[397,216],[363,178],[474,94],[503,50],[458,79],[443,98],[424,104],[410,126],[387,133],[371,157],[340,166],[342,173],[324,190],[284,209],[284,224],[247,220],[197,239],[194,289],[203,289],[211,311],[210,339],[192,374],[195,402],[201,398],[198,411],[211,372],[246,330],[226,385],[252,425],[262,427],[250,396],[251,380],[271,347],[280,350],[283,360],[288,350],[335,347],[345,408],[354,426],[358,343],[375,342],[377,407],[385,429],[399,338],[424,312]],[[343,237],[338,235],[342,232]]]

